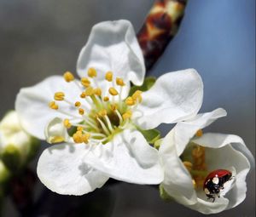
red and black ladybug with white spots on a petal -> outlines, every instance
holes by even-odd
[[[213,203],[215,197],[219,197],[219,192],[224,190],[224,183],[232,178],[232,173],[226,169],[217,169],[208,174],[203,186],[207,199],[212,198]]]

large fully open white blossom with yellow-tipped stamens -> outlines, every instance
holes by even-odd
[[[80,82],[66,72],[65,79],[49,77],[17,96],[16,110],[28,132],[49,143],[65,142],[43,152],[39,179],[52,191],[73,195],[101,187],[108,177],[160,183],[158,151],[139,129],[193,117],[201,107],[201,77],[195,70],[168,73],[148,92],[127,97],[130,82],[141,85],[145,70],[126,20],[92,28],[78,71]]]

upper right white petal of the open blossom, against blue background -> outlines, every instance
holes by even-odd
[[[176,123],[194,117],[201,108],[203,83],[193,69],[166,73],[142,94],[135,122],[141,128],[155,128],[160,123]]]

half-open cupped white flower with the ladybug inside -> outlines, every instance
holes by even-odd
[[[202,134],[218,117],[226,116],[224,109],[198,114],[177,123],[160,146],[160,157],[165,168],[161,183],[166,193],[178,203],[203,214],[213,214],[236,207],[246,197],[246,176],[253,165],[253,156],[243,140],[233,134]],[[220,188],[219,195],[207,199],[204,181],[207,174],[226,169],[232,178]],[[215,178],[216,183],[219,181]],[[219,196],[219,197],[218,197]],[[214,201],[214,202],[213,202]]]

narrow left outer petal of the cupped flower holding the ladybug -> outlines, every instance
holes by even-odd
[[[177,156],[173,143],[174,131],[164,138],[160,146],[160,157],[165,168],[165,180],[161,184],[166,192],[182,204],[196,203],[196,194],[188,170]]]

